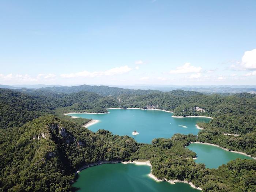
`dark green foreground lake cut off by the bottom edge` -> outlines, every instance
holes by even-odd
[[[199,192],[185,183],[156,182],[148,177],[149,173],[147,165],[97,165],[82,170],[73,187],[80,188],[79,192]]]

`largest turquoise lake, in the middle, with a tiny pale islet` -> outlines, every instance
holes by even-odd
[[[70,113],[69,116],[99,120],[88,127],[96,132],[106,129],[116,135],[128,135],[140,143],[151,143],[155,138],[171,138],[175,133],[197,135],[196,123],[209,122],[209,118],[174,118],[173,113],[159,110],[109,109],[105,114]],[[132,135],[136,130],[138,135]]]

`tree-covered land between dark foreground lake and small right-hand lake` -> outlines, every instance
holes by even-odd
[[[135,157],[150,159],[152,173],[159,179],[192,182],[203,192],[231,191],[253,192],[256,190],[256,161],[236,159],[218,169],[207,169],[195,163],[195,153],[184,146],[194,142],[193,135],[176,134],[172,139],[156,139],[153,145],[141,144]]]

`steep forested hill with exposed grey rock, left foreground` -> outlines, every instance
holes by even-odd
[[[71,191],[79,167],[128,161],[137,149],[128,136],[39,117],[18,129],[0,129],[0,191]]]

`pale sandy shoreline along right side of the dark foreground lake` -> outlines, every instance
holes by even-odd
[[[183,183],[187,183],[189,184],[191,187],[195,188],[195,189],[199,189],[202,191],[202,188],[200,187],[196,187],[195,185],[192,184],[192,182],[188,182],[188,181],[180,181],[180,180],[167,180],[166,178],[165,179],[158,179],[156,176],[154,176],[152,174],[152,165],[150,163],[150,161],[144,161],[144,162],[141,162],[141,161],[122,161],[123,164],[128,164],[128,163],[133,163],[133,164],[136,164],[136,165],[147,165],[147,166],[150,166],[151,167],[151,172],[150,174],[148,174],[148,177],[151,177],[153,178],[155,181],[159,182],[159,181],[167,181],[169,182],[170,184],[175,184],[176,182],[183,182]]]

